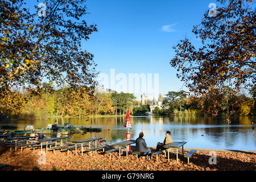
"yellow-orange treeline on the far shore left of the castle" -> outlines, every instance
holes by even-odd
[[[133,113],[133,94],[109,91],[92,92],[86,87],[54,90],[46,85],[40,90],[5,89],[0,92],[0,112],[19,119],[121,115],[127,109]]]

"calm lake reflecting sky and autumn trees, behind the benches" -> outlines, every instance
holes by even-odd
[[[36,121],[10,121],[9,125],[17,125],[23,130],[26,125],[46,127],[57,119],[59,125],[72,123],[88,127],[101,127],[100,133],[72,134],[69,141],[91,137],[102,137],[107,143],[113,144],[126,139],[127,129],[123,127],[125,117],[94,117],[94,118],[49,118]],[[147,146],[156,146],[163,142],[166,131],[171,131],[174,141],[187,142],[185,148],[211,148],[255,151],[256,141],[253,125],[248,117],[232,119],[228,125],[224,118],[204,117],[130,117],[131,138],[138,138],[144,133]],[[7,123],[1,123],[7,124]]]

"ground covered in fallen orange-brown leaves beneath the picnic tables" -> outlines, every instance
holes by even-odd
[[[154,151],[154,147],[151,147]],[[10,151],[9,148],[0,148],[0,164],[8,164],[9,167],[1,168],[0,170],[253,170],[255,171],[256,155],[250,152],[232,152],[232,151],[216,151],[217,164],[209,164],[209,151],[196,151],[194,158],[191,158],[190,163],[187,163],[187,158],[182,157],[182,151],[179,151],[179,163],[176,162],[176,155],[170,152],[170,162],[167,156],[159,155],[158,162],[155,156],[152,160],[139,157],[136,160],[135,155],[128,155],[123,152],[119,159],[118,152],[105,154],[101,151],[94,151],[92,157],[90,153],[85,153],[81,156],[81,150],[75,156],[75,151],[67,152],[55,151],[55,154],[48,151],[46,155],[46,164],[39,164],[40,150],[35,150],[35,153],[29,149],[24,149],[23,152],[18,150]],[[185,151],[185,154],[187,151]],[[43,159],[43,157],[41,157]]]

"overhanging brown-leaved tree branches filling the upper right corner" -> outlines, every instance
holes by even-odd
[[[196,94],[225,88],[250,88],[255,81],[255,9],[252,0],[217,0],[216,16],[208,12],[192,32],[201,40],[195,47],[180,40],[170,64]],[[225,87],[226,86],[226,87]]]

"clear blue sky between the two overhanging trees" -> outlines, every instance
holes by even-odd
[[[212,2],[216,3],[212,0],[87,0],[90,14],[86,15],[86,21],[97,24],[98,32],[82,48],[93,53],[101,73],[110,75],[111,68],[115,74],[159,73],[159,92],[177,91],[183,82],[169,64],[174,56],[172,46],[185,35],[200,44],[191,31]],[[140,100],[140,94],[135,96]]]

